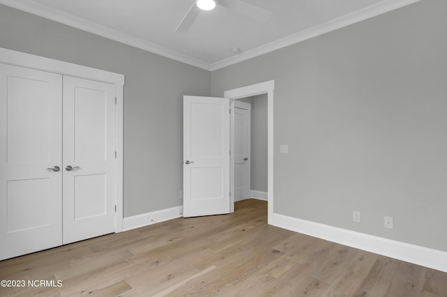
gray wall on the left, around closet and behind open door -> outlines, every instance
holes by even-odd
[[[126,75],[124,216],[182,205],[182,96],[210,72],[2,5],[0,47]]]

